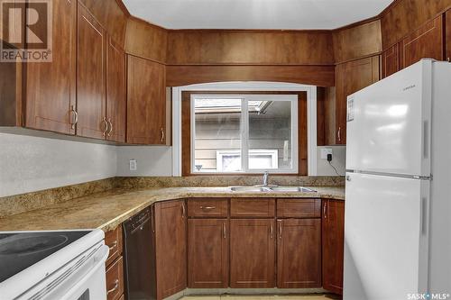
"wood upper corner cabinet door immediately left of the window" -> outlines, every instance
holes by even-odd
[[[127,142],[166,144],[165,67],[128,56]]]

